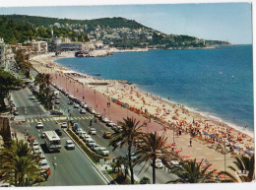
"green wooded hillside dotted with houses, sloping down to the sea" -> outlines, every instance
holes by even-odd
[[[11,29],[7,29],[6,22],[11,23],[9,28],[15,24],[16,28],[14,32]],[[21,27],[18,27],[20,25]],[[22,26],[27,29],[30,28],[30,32],[23,31]],[[1,29],[2,27],[4,30]],[[71,20],[28,15],[0,16],[0,36],[4,38],[7,37],[7,42],[11,41],[13,43],[17,40],[22,42],[26,38],[49,39],[51,37],[51,28],[55,36],[69,37],[73,41],[101,40],[110,47],[123,49],[131,49],[134,47],[187,49],[230,45],[230,43],[226,41],[205,40],[189,35],[165,34],[145,27],[134,20],[127,20],[120,17],[94,20]],[[23,31],[22,37],[19,33],[21,31]]]

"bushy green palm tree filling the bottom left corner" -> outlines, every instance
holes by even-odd
[[[0,152],[1,180],[14,186],[32,186],[43,180],[38,160],[23,140],[12,141]]]

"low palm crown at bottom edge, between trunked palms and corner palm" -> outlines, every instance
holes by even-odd
[[[212,164],[202,168],[201,162],[197,163],[196,159],[180,162],[181,167],[175,167],[172,170],[178,178],[167,181],[166,183],[205,183],[213,182],[213,173],[216,169],[208,171]]]

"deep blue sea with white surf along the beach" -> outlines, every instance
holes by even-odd
[[[87,75],[99,73],[97,78],[129,81],[144,92],[254,133],[252,45],[122,52],[55,62]]]

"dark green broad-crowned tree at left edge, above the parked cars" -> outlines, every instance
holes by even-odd
[[[0,109],[6,109],[4,98],[9,95],[10,91],[17,91],[22,87],[22,80],[0,69]]]

